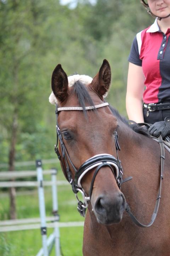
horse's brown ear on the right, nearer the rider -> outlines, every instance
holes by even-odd
[[[97,75],[91,82],[92,89],[103,97],[107,93],[111,84],[111,67],[106,59],[103,60],[103,64]]]

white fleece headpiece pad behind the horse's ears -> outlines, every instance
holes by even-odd
[[[68,86],[72,87],[76,81],[82,82],[82,84],[87,85],[90,84],[93,79],[87,75],[72,75],[68,76]],[[49,101],[51,104],[56,105],[58,103],[56,96],[53,92],[51,92]]]

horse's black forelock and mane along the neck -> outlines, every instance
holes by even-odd
[[[85,103],[88,103],[89,106],[94,106],[94,102],[92,101],[86,86],[79,80],[76,81],[73,85],[72,94],[75,94],[77,96],[79,100],[79,105],[83,108],[83,112],[86,116]],[[109,108],[111,109],[115,117],[117,117],[120,121],[122,121],[132,130],[134,130],[134,132],[148,136],[147,129],[145,127],[141,127],[137,123],[129,124],[128,120],[125,117],[122,117],[115,108],[113,108],[112,106],[109,106]]]

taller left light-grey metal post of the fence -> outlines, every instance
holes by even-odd
[[[51,169],[51,181],[52,181],[52,213],[55,218],[55,222],[58,221],[58,197],[57,197],[57,170]],[[58,226],[55,226],[54,228],[54,234],[55,234],[55,255],[60,256],[60,230]]]

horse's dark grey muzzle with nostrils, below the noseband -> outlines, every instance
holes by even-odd
[[[124,194],[118,192],[114,196],[108,196],[107,194],[98,196],[93,211],[98,223],[111,225],[121,221],[125,208],[126,200]]]

